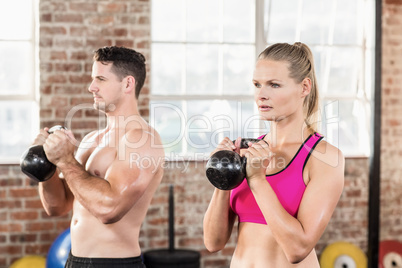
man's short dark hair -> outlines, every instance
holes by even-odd
[[[138,99],[146,77],[145,57],[134,49],[125,47],[102,47],[94,52],[94,61],[112,62],[112,71],[122,80],[135,78],[135,97]]]

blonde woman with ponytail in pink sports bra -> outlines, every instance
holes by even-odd
[[[264,141],[240,150],[225,138],[218,150],[247,157],[247,178],[232,191],[215,189],[204,218],[204,243],[223,249],[238,218],[231,268],[319,267],[314,247],[344,184],[342,152],[317,133],[318,87],[311,50],[274,44],[256,62],[255,102],[270,121]],[[267,145],[268,144],[268,145]]]

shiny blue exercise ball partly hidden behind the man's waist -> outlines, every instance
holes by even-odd
[[[70,228],[61,233],[49,249],[46,268],[64,268],[71,250]]]

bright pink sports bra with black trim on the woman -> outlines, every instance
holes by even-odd
[[[259,137],[263,139],[264,136]],[[303,181],[303,170],[311,152],[323,137],[318,133],[310,135],[299,150],[281,171],[267,175],[267,181],[276,193],[283,208],[296,217],[306,185]],[[230,207],[239,216],[239,222],[267,224],[254,195],[248,187],[247,180],[232,190]]]

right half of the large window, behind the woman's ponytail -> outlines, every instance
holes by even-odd
[[[374,0],[266,0],[262,45],[301,41],[315,60],[321,132],[346,156],[370,154]]]

